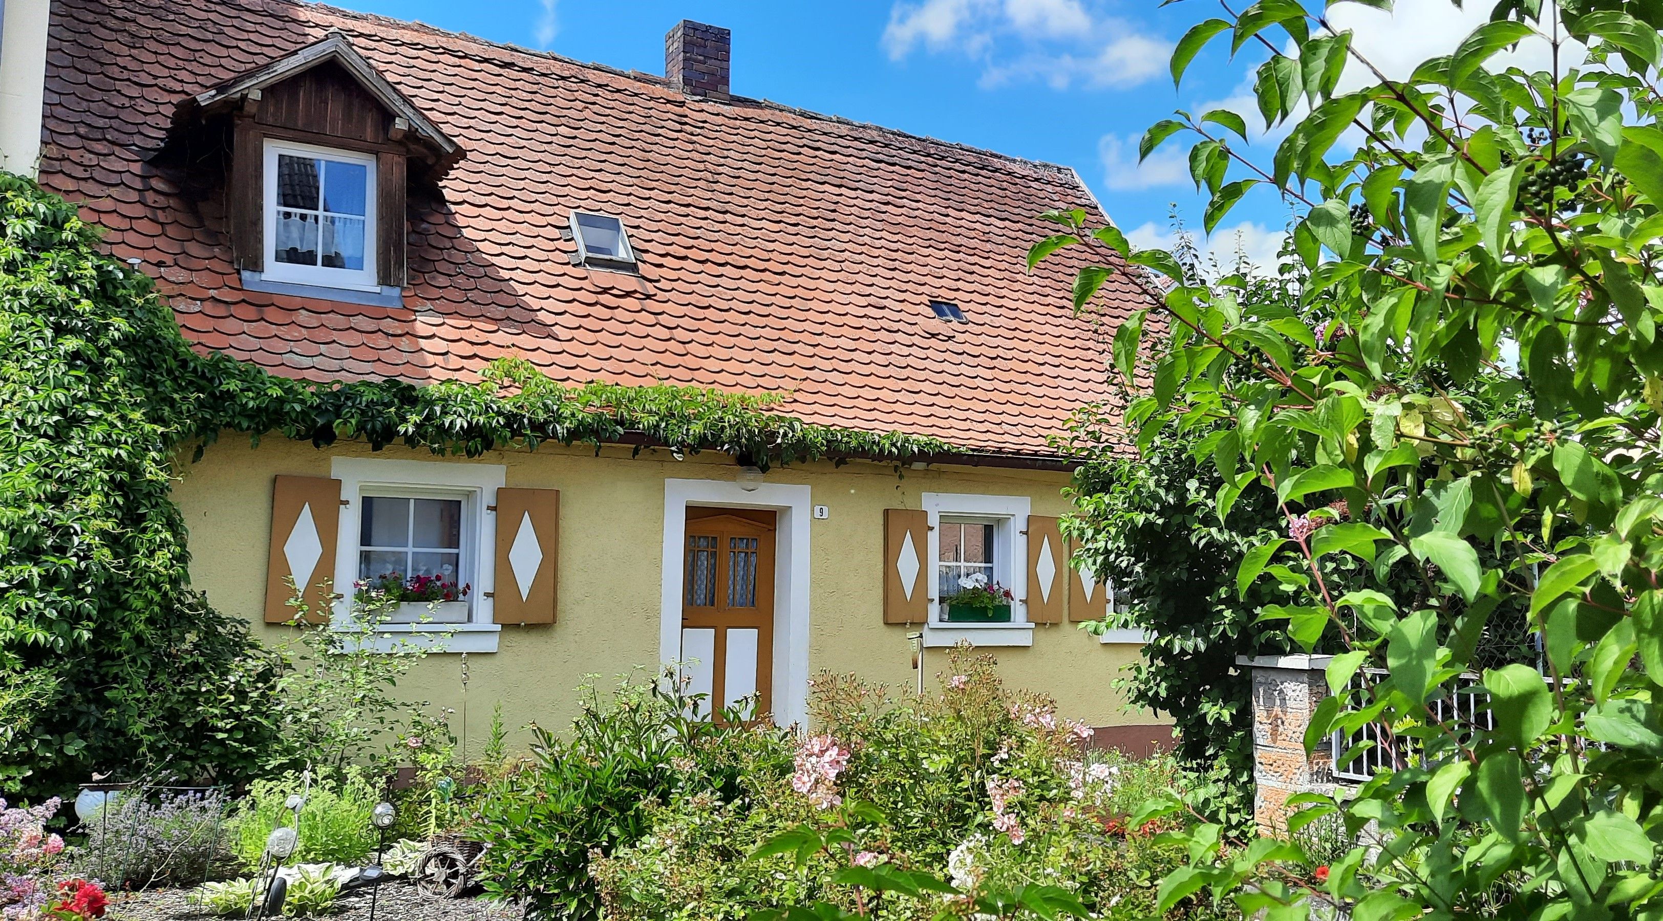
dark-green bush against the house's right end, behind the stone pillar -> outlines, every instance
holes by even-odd
[[[1234,825],[1252,816],[1252,680],[1237,655],[1277,655],[1289,642],[1254,623],[1274,600],[1267,587],[1236,592],[1242,555],[1279,524],[1274,497],[1246,494],[1229,522],[1214,512],[1222,477],[1191,457],[1197,439],[1154,439],[1124,456],[1124,436],[1098,411],[1076,414],[1071,449],[1084,462],[1063,527],[1076,559],[1114,580],[1129,603],[1096,627],[1147,633],[1142,655],[1116,678],[1131,703],[1171,713],[1177,755],[1219,780],[1209,813]]]

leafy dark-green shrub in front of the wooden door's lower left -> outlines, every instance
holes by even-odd
[[[602,695],[580,688],[567,736],[532,726],[532,758],[494,781],[477,803],[472,835],[489,843],[484,886],[524,899],[537,916],[600,916],[590,863],[647,833],[655,805],[683,785],[738,795],[750,771],[790,765],[785,730],[745,725],[737,712],[710,722],[672,675],[625,678]]]

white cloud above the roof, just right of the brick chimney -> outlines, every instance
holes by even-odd
[[[901,60],[920,47],[980,62],[983,86],[1033,80],[1058,90],[1136,86],[1166,70],[1172,48],[1083,0],[896,0],[883,48]]]

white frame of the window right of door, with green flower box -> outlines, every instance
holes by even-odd
[[[981,495],[973,492],[925,492],[921,505],[930,520],[930,620],[925,622],[926,647],[951,647],[968,640],[978,647],[1031,647],[1034,625],[1028,622],[1028,514],[1033,500],[1026,495]],[[951,623],[941,618],[941,519],[993,522],[994,579],[1011,590],[1009,623]],[[1003,567],[1001,569],[1001,560]]]

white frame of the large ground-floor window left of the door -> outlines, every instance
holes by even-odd
[[[371,457],[336,457],[329,475],[341,480],[341,529],[336,539],[334,584],[336,605],[331,623],[336,630],[353,630],[353,584],[358,582],[359,525],[364,495],[464,497],[462,504],[462,579],[472,584],[466,623],[382,623],[369,648],[426,648],[429,652],[497,652],[492,593],[496,592],[496,514],[497,490],[507,480],[502,464],[462,464],[439,460],[381,460]],[[472,562],[472,572],[467,570]]]

